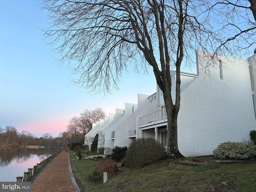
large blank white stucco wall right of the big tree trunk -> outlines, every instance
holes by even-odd
[[[219,56],[225,65],[220,79],[218,63],[210,64],[208,76],[203,52],[197,56],[199,76],[181,93],[178,115],[178,146],[184,156],[211,155],[222,142],[249,140],[256,128],[247,61]]]

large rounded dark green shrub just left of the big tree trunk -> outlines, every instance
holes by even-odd
[[[164,154],[165,148],[158,141],[153,138],[139,138],[130,144],[123,164],[130,168],[142,168],[158,162]]]

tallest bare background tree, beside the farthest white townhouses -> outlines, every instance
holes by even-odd
[[[92,130],[92,124],[97,121],[104,119],[105,112],[102,108],[96,108],[94,110],[86,109],[84,110],[79,117],[79,128],[84,136]]]

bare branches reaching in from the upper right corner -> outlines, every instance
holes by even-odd
[[[222,34],[215,54],[248,58],[256,52],[255,0],[204,0],[202,7],[215,33]]]

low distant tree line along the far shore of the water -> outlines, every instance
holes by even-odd
[[[14,126],[0,127],[0,145],[1,146],[27,146],[36,145],[44,147],[65,147],[68,141],[61,137],[53,138],[51,134],[43,134],[37,138],[32,133],[22,130],[18,131]]]

